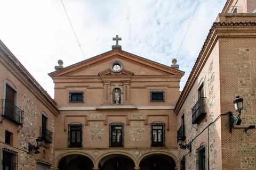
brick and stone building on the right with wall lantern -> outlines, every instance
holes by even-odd
[[[255,8],[227,1],[210,29],[175,106],[180,169],[256,169],[256,131],[247,130],[256,124]],[[244,99],[242,123],[230,129],[236,96]]]

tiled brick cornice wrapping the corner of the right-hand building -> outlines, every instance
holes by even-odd
[[[199,53],[196,62],[191,70],[188,80],[183,88],[181,95],[177,101],[174,112],[179,113],[184,101],[186,100],[191,88],[202,70],[211,50],[213,49],[217,40],[221,37],[249,37],[255,36],[256,22],[214,22],[210,29],[206,40],[203,44],[201,52]]]

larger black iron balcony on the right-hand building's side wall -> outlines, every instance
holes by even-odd
[[[206,114],[205,109],[206,97],[201,97],[192,109],[192,123],[198,123]]]

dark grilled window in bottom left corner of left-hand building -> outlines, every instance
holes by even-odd
[[[3,149],[3,169],[17,170],[18,169],[18,153],[12,150]]]

